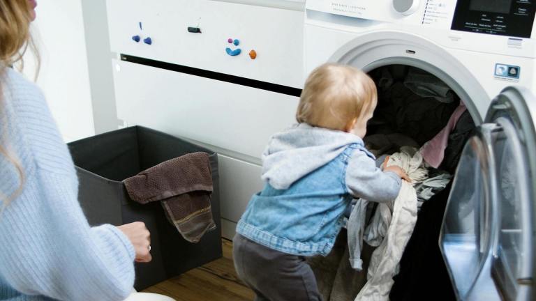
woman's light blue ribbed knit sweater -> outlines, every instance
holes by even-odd
[[[0,300],[124,300],[133,245],[112,225],[87,223],[73,160],[38,88],[11,69],[1,82],[1,143],[26,179],[0,214]],[[0,207],[19,183],[0,155]]]

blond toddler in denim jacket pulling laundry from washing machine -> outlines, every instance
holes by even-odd
[[[396,199],[396,166],[383,171],[364,147],[377,93],[364,72],[328,63],[313,70],[301,93],[298,124],[271,137],[262,155],[266,185],[242,215],[234,265],[255,300],[321,300],[305,256],[326,256],[352,198]]]

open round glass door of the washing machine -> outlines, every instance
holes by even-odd
[[[463,149],[440,234],[459,300],[533,300],[535,114],[507,87]]]

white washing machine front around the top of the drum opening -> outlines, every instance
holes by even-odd
[[[505,21],[497,13],[504,8],[495,7],[496,12],[489,17],[494,27],[482,30],[481,27],[488,26],[486,22],[466,22],[470,20],[467,15],[474,12],[458,13],[456,6],[462,1],[463,7],[469,5],[471,9],[487,5],[480,0],[308,0],[304,75],[328,61],[354,65],[366,72],[382,65],[412,65],[449,84],[466,103],[478,125],[484,121],[492,99],[507,86],[520,86],[536,94],[536,26],[530,23],[532,30],[507,36],[506,30],[501,31],[501,27],[493,23]],[[531,1],[511,3],[514,14],[521,11],[517,6],[534,4]],[[463,31],[452,29],[459,15],[465,18],[462,23],[467,28]],[[487,16],[482,13],[478,17],[485,21]],[[515,26],[517,24],[512,25]],[[529,96],[523,101],[533,105],[535,98]],[[530,145],[535,143],[528,141]],[[463,244],[449,247],[452,248],[447,252],[451,253],[471,251]],[[467,265],[470,260],[470,257],[460,257],[456,264]],[[462,291],[472,289],[467,300],[501,300],[491,279],[491,259],[482,266],[484,272],[477,275],[475,284],[466,283],[461,287]],[[530,298],[528,291],[518,293],[518,300],[529,300],[526,299]]]

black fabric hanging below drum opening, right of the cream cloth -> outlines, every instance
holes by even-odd
[[[439,249],[439,233],[452,185],[449,184],[424,202],[415,229],[400,261],[400,272],[393,277],[389,300],[456,300]]]

